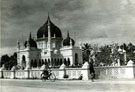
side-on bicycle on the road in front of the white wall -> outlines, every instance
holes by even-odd
[[[46,70],[46,72],[48,72],[48,74],[45,74],[44,72],[41,73],[41,75],[40,75],[41,80],[43,80],[43,81],[50,80],[50,81],[54,82],[56,80],[55,74],[52,73],[51,70],[50,71]]]

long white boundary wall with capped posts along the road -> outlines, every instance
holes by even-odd
[[[25,79],[39,79],[42,70],[0,70],[0,78],[25,78]],[[83,80],[90,79],[89,64],[86,62],[82,68],[66,68],[64,64],[59,69],[52,69],[57,79],[64,79],[63,76],[67,74],[69,79],[78,79],[81,75]],[[95,67],[96,79],[112,79],[112,78],[135,78],[135,66],[133,61],[129,61],[127,66],[108,66]]]

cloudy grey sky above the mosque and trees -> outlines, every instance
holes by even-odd
[[[135,0],[0,0],[1,55],[34,38],[47,20],[76,44],[135,43]]]

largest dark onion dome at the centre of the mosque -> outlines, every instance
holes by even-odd
[[[51,22],[49,15],[45,24],[38,29],[37,38],[48,37],[48,26],[50,26],[51,37],[62,38],[61,30]]]

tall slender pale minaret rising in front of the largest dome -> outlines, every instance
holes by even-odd
[[[50,29],[50,17],[49,17],[49,13],[48,13],[48,23],[47,23],[47,26],[48,26],[48,50],[51,51],[51,29]]]

